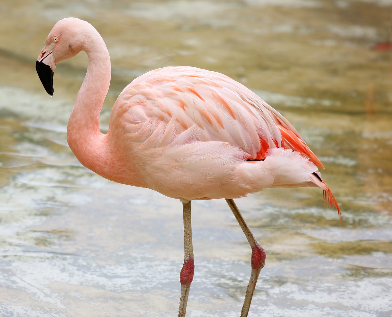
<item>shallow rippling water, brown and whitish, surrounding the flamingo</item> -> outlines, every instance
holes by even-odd
[[[112,58],[102,111],[165,65],[223,72],[298,129],[342,209],[316,188],[238,206],[267,262],[249,316],[392,313],[392,53],[388,0],[18,1],[0,9],[0,314],[174,316],[181,203],[83,168],[66,126],[87,59],[59,64],[50,98],[34,64],[57,20],[77,16]],[[224,200],[195,201],[189,317],[238,316],[250,249]]]

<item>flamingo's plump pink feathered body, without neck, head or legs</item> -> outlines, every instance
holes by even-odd
[[[94,161],[91,169],[186,200],[315,186],[310,176],[317,167],[309,157],[321,165],[294,127],[252,91],[188,66],[156,69],[131,82],[114,104],[104,138],[121,163],[101,171]]]

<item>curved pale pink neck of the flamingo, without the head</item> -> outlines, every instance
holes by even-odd
[[[105,164],[105,135],[99,129],[99,119],[109,91],[111,64],[105,42],[98,32],[94,41],[83,50],[89,65],[68,121],[67,141],[80,163],[100,174],[98,171]]]

